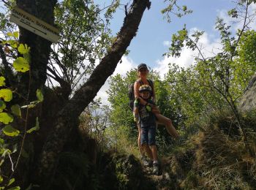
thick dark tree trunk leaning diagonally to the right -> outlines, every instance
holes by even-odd
[[[121,56],[124,55],[129,43],[138,31],[146,7],[150,7],[149,0],[134,0],[129,13],[124,18],[124,24],[117,34],[116,41],[113,42],[107,55],[94,69],[89,80],[75,92],[72,99],[59,112],[53,132],[48,136],[42,148],[38,170],[35,170],[34,174],[34,182],[40,185],[40,189],[50,187],[50,180],[54,174],[53,170],[58,162],[59,153],[67,141],[69,132],[78,125],[80,113],[94,99],[108,77],[113,74],[118,61],[120,61]]]

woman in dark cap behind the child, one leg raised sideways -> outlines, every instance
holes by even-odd
[[[140,102],[140,104],[146,105],[148,104],[145,100],[143,100],[143,98],[140,97],[140,92],[139,92],[139,88],[142,85],[148,85],[151,86],[152,89],[152,96],[151,99],[154,102],[156,99],[155,96],[155,90],[154,90],[154,83],[151,80],[148,80],[148,66],[146,64],[139,64],[138,65],[138,80],[135,81],[134,83],[134,94],[135,94],[135,99],[138,99],[138,101]],[[152,107],[152,113],[154,113],[154,115],[156,115],[157,118],[157,123],[161,123],[165,125],[165,128],[167,129],[167,132],[172,135],[175,138],[178,138],[178,133],[176,132],[176,129],[173,126],[172,121],[170,120],[170,118],[166,118],[164,115],[162,115],[157,107]],[[138,125],[138,147],[139,147],[139,151],[142,155],[142,159],[144,164],[147,165],[146,159],[144,157],[144,153],[143,153],[143,148],[141,147],[141,143],[140,143],[140,138],[141,138],[141,129],[140,129],[140,123],[137,123]]]

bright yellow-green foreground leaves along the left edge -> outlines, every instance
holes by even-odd
[[[9,32],[7,33],[7,36],[10,39],[4,40],[1,42],[1,47],[2,45],[5,46],[6,48],[5,53],[6,54],[1,54],[2,56],[7,56],[8,54],[11,54],[13,57],[10,58],[10,60],[8,61],[12,61],[13,60],[13,64],[12,67],[10,67],[10,69],[12,70],[12,72],[27,72],[29,71],[29,61],[30,61],[30,57],[29,57],[29,51],[30,51],[30,47],[28,47],[26,44],[19,44],[17,39],[18,39],[18,31],[15,31],[13,33]],[[4,59],[3,59],[4,60]],[[7,61],[7,60],[5,60]],[[2,61],[2,63],[5,67],[5,69],[7,69],[7,65],[6,63],[4,63],[4,61]],[[15,101],[13,101],[13,96],[20,96],[20,94],[18,94],[18,91],[13,90],[13,86],[10,86],[10,81],[6,81],[6,77],[7,73],[4,72],[4,69],[1,69],[1,76],[0,80],[1,80],[1,89],[0,89],[0,104],[1,104],[1,108],[0,108],[0,122],[1,122],[1,126],[3,126],[3,124],[5,124],[5,126],[2,127],[1,131],[3,132],[3,134],[5,134],[7,137],[12,137],[14,138],[14,140],[18,140],[17,137],[21,136],[21,138],[19,139],[25,139],[26,137],[26,133],[30,133],[33,132],[34,130],[38,130],[39,129],[39,122],[38,122],[38,118],[36,119],[36,126],[35,129],[31,128],[29,130],[26,131],[26,123],[27,123],[27,115],[29,114],[28,110],[26,112],[26,114],[22,114],[20,108],[24,108],[27,107],[27,109],[29,109],[29,105],[33,105],[31,107],[35,107],[36,104],[38,104],[39,102],[42,102],[43,100],[43,95],[42,92],[38,89],[37,90],[37,98],[38,100],[35,100],[33,102],[30,102],[29,105],[25,105],[23,107],[20,107],[19,104],[15,104]],[[7,76],[8,77],[8,76]],[[13,102],[12,102],[13,101]],[[28,102],[27,99],[25,99],[26,102]],[[18,129],[15,129],[14,126],[16,126],[16,122],[18,122],[19,120],[23,120],[24,121],[24,132],[20,132]],[[10,124],[13,123],[13,126]],[[16,139],[15,139],[16,137]],[[6,139],[6,138],[4,138]],[[20,156],[18,156],[18,158],[15,157],[15,164],[12,162],[12,154],[15,153],[17,151],[17,145],[15,144],[13,145],[13,142],[10,143],[7,141],[5,141],[4,139],[1,139],[1,166],[4,163],[5,159],[7,159],[7,155],[9,156],[10,162],[11,162],[11,170],[12,173],[10,176],[7,176],[5,174],[1,174],[1,175],[5,175],[4,178],[2,178],[1,176],[1,183],[3,183],[4,181],[4,186],[1,186],[0,189],[6,189],[8,186],[11,186],[12,183],[14,183],[15,178],[12,178],[13,173],[15,172],[15,169],[18,165]],[[21,143],[21,142],[20,142]],[[10,148],[11,146],[14,146],[14,148]],[[23,152],[23,145],[21,145],[20,151],[19,151],[19,155],[21,155]],[[20,189],[19,186],[15,186],[12,187],[10,189]]]

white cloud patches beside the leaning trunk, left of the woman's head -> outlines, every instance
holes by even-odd
[[[119,62],[118,65],[116,66],[116,70],[113,73],[113,75],[120,74],[122,76],[125,76],[126,73],[137,66],[134,61],[132,61],[131,58],[127,56],[123,56],[121,58],[121,63]],[[100,88],[99,92],[97,93],[97,96],[95,98],[101,98],[102,99],[102,104],[109,104],[108,102],[108,94],[106,91],[108,91],[109,85],[108,85],[108,80],[105,82],[104,86]]]

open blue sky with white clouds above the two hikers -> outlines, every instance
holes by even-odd
[[[95,1],[96,2],[96,1]],[[125,2],[125,1],[122,1]],[[195,52],[187,48],[181,50],[179,58],[162,56],[167,53],[170,47],[170,39],[173,34],[184,27],[186,24],[189,32],[192,31],[205,31],[200,44],[205,47],[204,53],[211,56],[212,52],[217,52],[221,47],[219,33],[215,29],[214,24],[217,17],[223,18],[227,23],[232,23],[233,20],[227,16],[227,11],[236,6],[233,0],[180,0],[179,5],[187,5],[188,9],[192,9],[192,14],[185,15],[183,18],[176,18],[171,15],[171,23],[163,19],[161,10],[167,6],[162,0],[151,0],[151,8],[146,9],[141,20],[138,34],[132,39],[129,45],[129,55],[123,56],[121,64],[118,64],[114,75],[125,75],[127,71],[136,68],[138,64],[145,63],[159,72],[164,77],[168,69],[169,63],[176,63],[179,66],[187,67],[193,64]],[[106,5],[107,3],[105,3]],[[123,6],[124,7],[124,6]],[[252,9],[256,9],[255,4]],[[113,34],[118,32],[124,19],[124,8],[118,9],[113,16],[111,22],[111,29]],[[233,28],[238,28],[238,24],[232,24]],[[252,23],[252,27],[256,24]],[[108,81],[105,86],[101,88],[98,97],[101,97],[103,104],[108,104],[108,95],[105,91],[108,90]]]

